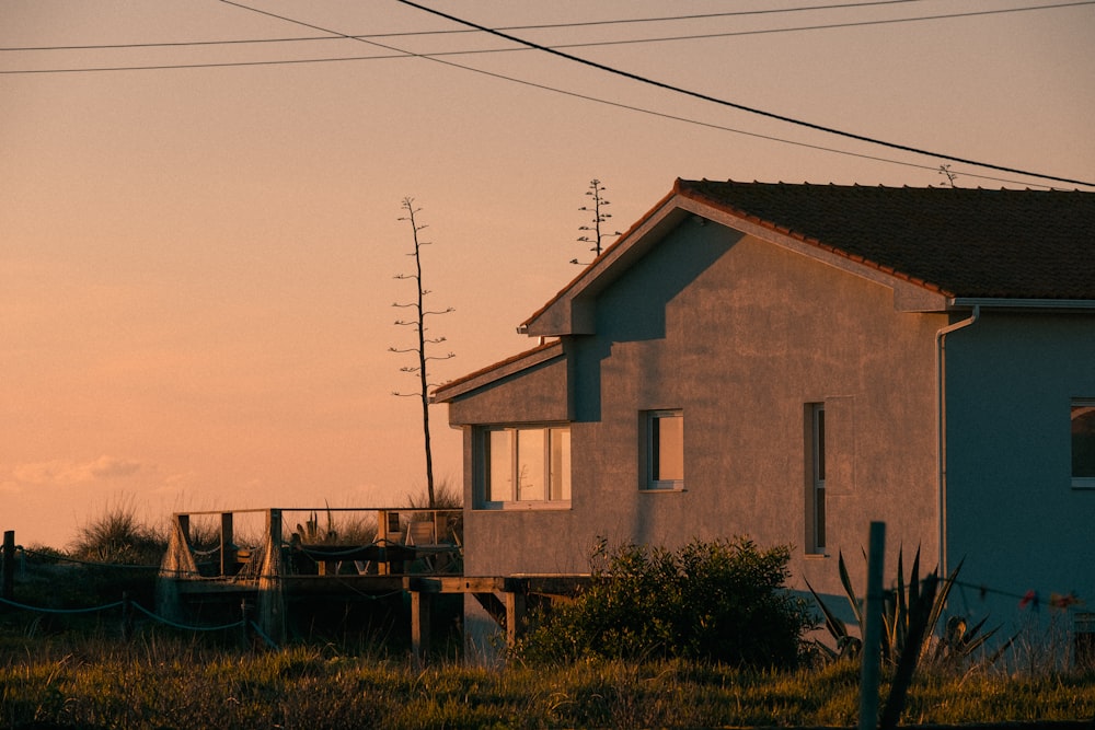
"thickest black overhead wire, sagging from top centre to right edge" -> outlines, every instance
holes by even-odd
[[[228,2],[228,0],[221,0],[221,1],[222,2]],[[665,89],[666,91],[672,91],[672,92],[676,92],[678,94],[683,94],[685,96],[691,96],[693,99],[699,99],[701,101],[711,102],[713,104],[719,104],[722,106],[728,106],[730,108],[735,108],[735,109],[738,109],[740,112],[748,112],[749,114],[756,114],[756,115],[759,115],[759,116],[768,117],[770,119],[776,119],[779,121],[784,121],[784,123],[787,123],[787,124],[797,125],[799,127],[806,127],[807,129],[814,129],[816,131],[821,131],[821,132],[826,132],[826,134],[829,134],[829,135],[837,135],[839,137],[844,137],[844,138],[848,138],[848,139],[854,139],[856,141],[867,142],[867,143],[871,143],[871,144],[877,144],[877,146],[880,146],[880,147],[887,147],[887,148],[894,149],[894,150],[901,150],[903,152],[912,152],[914,154],[922,154],[922,155],[927,155],[927,157],[933,157],[933,158],[941,158],[943,160],[950,160],[952,162],[959,162],[959,163],[963,163],[963,164],[976,165],[978,167],[984,167],[984,169],[988,169],[988,170],[996,170],[999,172],[1012,173],[1012,174],[1017,174],[1017,175],[1026,175],[1028,177],[1039,177],[1041,179],[1050,179],[1050,181],[1054,181],[1054,182],[1059,182],[1059,183],[1070,183],[1070,184],[1075,184],[1075,185],[1085,185],[1085,186],[1095,187],[1095,183],[1091,183],[1091,182],[1086,182],[1086,181],[1082,181],[1082,179],[1073,179],[1073,178],[1069,178],[1069,177],[1060,177],[1060,176],[1056,176],[1056,175],[1047,175],[1047,174],[1044,174],[1044,173],[1031,172],[1031,171],[1022,170],[1022,169],[1018,169],[1018,167],[1007,167],[1007,166],[1003,166],[1003,165],[995,165],[995,164],[991,164],[991,163],[988,163],[988,162],[978,162],[977,160],[970,160],[968,158],[960,158],[960,157],[957,157],[957,155],[954,155],[954,154],[945,154],[945,153],[942,153],[942,152],[933,152],[931,150],[925,150],[925,149],[922,149],[922,148],[911,147],[909,144],[899,144],[897,142],[888,142],[888,141],[883,140],[883,139],[877,139],[877,138],[874,138],[874,137],[867,137],[865,135],[858,135],[858,134],[855,134],[855,132],[845,131],[843,129],[837,129],[834,127],[827,127],[825,125],[815,124],[812,121],[806,121],[805,119],[797,119],[795,117],[788,117],[788,116],[783,115],[783,114],[776,114],[774,112],[766,112],[764,109],[760,109],[760,108],[752,107],[752,106],[747,106],[745,104],[738,104],[737,102],[731,102],[731,101],[727,101],[727,100],[724,100],[724,99],[718,99],[717,96],[712,96],[710,94],[704,94],[702,92],[692,91],[692,90],[689,90],[689,89],[684,89],[682,86],[676,86],[673,84],[666,83],[664,81],[656,81],[656,80],[650,79],[648,77],[643,77],[643,76],[639,76],[637,73],[632,73],[631,71],[624,71],[622,69],[618,69],[618,68],[614,68],[614,67],[611,67],[611,66],[606,66],[604,63],[598,63],[597,61],[591,61],[589,59],[581,58],[579,56],[574,56],[572,54],[567,54],[565,51],[557,50],[557,49],[551,48],[549,46],[543,46],[543,45],[540,45],[538,43],[533,43],[531,40],[526,40],[526,39],[519,38],[519,37],[517,37],[515,35],[509,35],[508,33],[503,33],[500,31],[494,31],[494,30],[488,28],[488,27],[486,27],[484,25],[480,25],[479,23],[473,23],[471,21],[466,21],[466,20],[463,20],[461,18],[457,18],[456,15],[451,15],[451,14],[442,12],[440,10],[435,10],[433,8],[427,8],[426,5],[423,5],[423,4],[417,3],[417,2],[413,2],[412,0],[395,0],[395,1],[399,2],[399,3],[401,3],[401,4],[407,5],[410,8],[416,8],[418,10],[422,10],[423,12],[429,13],[431,15],[437,15],[438,18],[445,18],[446,20],[452,21],[454,23],[460,23],[462,25],[468,25],[469,27],[477,28],[480,31],[483,31],[484,33],[489,33],[491,35],[495,35],[495,36],[498,36],[500,38],[505,38],[505,39],[510,40],[512,43],[519,43],[519,44],[526,45],[526,46],[528,46],[530,48],[535,48],[537,50],[542,50],[543,53],[551,54],[552,56],[557,56],[558,58],[564,58],[564,59],[569,60],[569,61],[575,61],[577,63],[581,63],[584,66],[588,66],[590,68],[595,68],[595,69],[598,69],[600,71],[606,71],[608,73],[612,73],[612,74],[615,74],[615,76],[619,76],[619,77],[622,77],[622,78],[625,78],[625,79],[631,79],[632,81],[637,81],[639,83],[644,83],[644,84],[647,84],[647,85],[656,86],[658,89]],[[238,3],[230,3],[230,4],[238,4]]]

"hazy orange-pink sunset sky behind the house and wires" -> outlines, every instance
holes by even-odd
[[[428,323],[441,383],[534,345],[517,326],[590,259],[595,178],[607,232],[677,177],[1095,190],[1091,2],[422,3],[596,66],[395,0],[0,0],[20,544],[119,508],[420,499],[420,404],[393,395],[414,361],[389,351],[413,346],[406,198],[453,309]]]

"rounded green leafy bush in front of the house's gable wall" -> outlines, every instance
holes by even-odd
[[[693,541],[668,551],[601,541],[593,580],[542,612],[516,652],[532,661],[696,659],[745,667],[798,663],[812,613],[785,590],[791,548]]]

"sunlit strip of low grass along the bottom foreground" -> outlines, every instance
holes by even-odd
[[[331,647],[216,648],[145,634],[3,644],[0,725],[92,728],[849,727],[858,673],[762,672],[680,661],[415,671],[402,657]],[[1095,676],[926,674],[906,723],[1095,717]]]

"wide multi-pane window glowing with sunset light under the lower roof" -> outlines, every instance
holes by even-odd
[[[570,429],[564,426],[489,428],[483,438],[486,502],[568,502]]]

